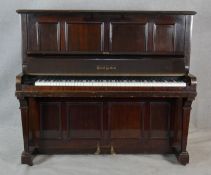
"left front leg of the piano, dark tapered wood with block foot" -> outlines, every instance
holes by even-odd
[[[32,166],[32,154],[29,150],[29,108],[28,108],[28,99],[19,98],[20,110],[21,110],[21,119],[23,127],[23,140],[24,140],[24,151],[21,155],[21,163]]]

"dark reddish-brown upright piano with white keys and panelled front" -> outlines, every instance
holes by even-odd
[[[24,151],[175,154],[186,165],[193,11],[17,10]],[[141,156],[141,155],[140,155]]]

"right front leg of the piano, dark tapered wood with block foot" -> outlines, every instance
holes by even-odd
[[[186,150],[187,139],[188,139],[188,129],[190,120],[191,104],[193,99],[186,98],[183,101],[182,108],[182,135],[181,135],[181,151],[177,152],[177,159],[182,165],[189,163],[189,154]]]

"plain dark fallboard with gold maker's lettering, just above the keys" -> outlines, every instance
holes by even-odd
[[[32,58],[24,67],[31,75],[139,76],[184,75],[183,58]]]

